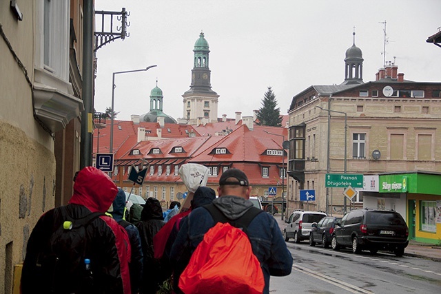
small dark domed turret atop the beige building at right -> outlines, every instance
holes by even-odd
[[[356,46],[356,32],[352,33],[352,47],[346,50],[345,81],[342,85],[363,83],[363,57],[361,49]]]

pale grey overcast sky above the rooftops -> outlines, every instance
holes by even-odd
[[[183,117],[182,94],[189,90],[194,43],[201,31],[209,44],[212,90],[218,117],[251,116],[272,87],[280,114],[311,85],[340,84],[345,52],[362,50],[363,81],[375,80],[396,56],[398,72],[411,81],[441,81],[441,48],[426,43],[441,27],[440,0],[96,0],[95,10],[130,12],[130,36],[96,52],[95,109],[112,103],[121,120],[150,111],[150,91],[163,90],[163,112]]]

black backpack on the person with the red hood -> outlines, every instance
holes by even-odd
[[[63,222],[54,228],[48,243],[37,257],[36,280],[41,289],[45,289],[44,293],[88,293],[92,291],[93,281],[84,260],[89,258],[92,268],[94,260],[85,256],[88,243],[86,227],[92,220],[105,214],[94,212],[75,219],[65,206],[55,210],[54,214],[58,211]],[[54,220],[54,223],[59,221]]]

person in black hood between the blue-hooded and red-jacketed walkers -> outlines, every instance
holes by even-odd
[[[163,209],[156,198],[148,198],[141,211],[141,222],[136,224],[141,235],[141,246],[143,247],[144,266],[143,279],[141,281],[141,292],[143,294],[154,294],[158,290],[158,283],[162,282],[163,269],[161,263],[154,258],[153,237],[165,224]]]

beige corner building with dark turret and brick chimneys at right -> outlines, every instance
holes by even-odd
[[[291,210],[342,214],[350,205],[362,207],[363,197],[382,198],[386,209],[400,207],[396,196],[379,194],[378,187],[376,191],[360,189],[354,202],[345,205],[344,189],[325,187],[326,174],[441,171],[441,151],[436,148],[441,144],[441,83],[407,81],[391,62],[376,73],[375,81],[364,83],[362,52],[354,46],[347,50],[342,84],[313,85],[292,99]],[[301,202],[300,189],[316,190],[316,201]],[[404,218],[405,207],[404,203],[400,211]]]

